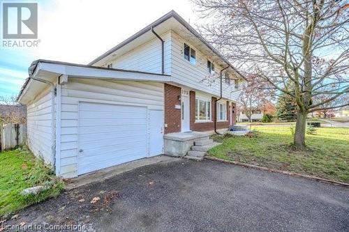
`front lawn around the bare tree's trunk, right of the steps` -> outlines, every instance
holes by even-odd
[[[209,150],[209,155],[349,183],[349,128],[318,128],[315,135],[306,134],[308,151],[291,146],[290,127],[253,125],[252,129],[257,137],[214,136],[223,144]]]

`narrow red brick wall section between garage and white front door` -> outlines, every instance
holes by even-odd
[[[181,88],[165,84],[165,134],[181,131],[181,109],[175,109],[174,105],[181,105],[178,96]],[[195,107],[195,106],[194,106]]]

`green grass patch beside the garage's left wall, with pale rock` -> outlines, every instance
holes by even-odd
[[[20,194],[22,190],[37,185],[47,186],[47,190],[38,195]],[[0,153],[0,216],[57,196],[63,189],[63,181],[26,148]]]

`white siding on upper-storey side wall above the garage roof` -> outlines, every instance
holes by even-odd
[[[164,43],[164,71],[171,75],[171,33],[161,35]],[[112,61],[113,68],[161,73],[161,41],[154,38]]]

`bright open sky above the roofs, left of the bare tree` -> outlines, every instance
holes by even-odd
[[[3,2],[0,0],[2,40]],[[0,44],[0,97],[17,95],[36,59],[87,64],[170,10],[192,25],[188,0],[43,0],[38,3],[38,47],[4,48]]]

